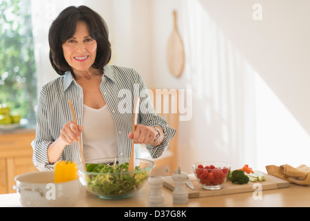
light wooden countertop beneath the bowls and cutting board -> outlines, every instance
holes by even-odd
[[[187,204],[173,204],[172,191],[162,188],[165,207],[305,207],[310,206],[310,186],[291,184],[288,188],[262,191],[262,198],[255,200],[252,192],[217,195],[189,199]],[[79,207],[147,207],[149,184],[130,196],[118,200],[105,200],[81,188]],[[21,206],[17,193],[0,195],[0,206]]]

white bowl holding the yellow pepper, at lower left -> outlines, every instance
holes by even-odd
[[[25,207],[74,206],[79,199],[79,179],[54,183],[54,171],[23,173],[14,178],[21,205]]]

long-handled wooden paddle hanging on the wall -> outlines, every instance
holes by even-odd
[[[167,61],[169,71],[172,73],[172,75],[174,75],[175,77],[180,77],[180,75],[182,75],[183,73],[185,52],[183,41],[176,27],[176,10],[174,10],[173,16],[174,28],[167,44]]]

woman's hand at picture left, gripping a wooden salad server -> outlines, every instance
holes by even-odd
[[[81,132],[83,127],[81,125],[76,125],[74,122],[70,121],[63,125],[61,129],[60,139],[65,142],[66,145],[72,144],[81,138]]]

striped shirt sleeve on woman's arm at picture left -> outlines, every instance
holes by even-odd
[[[32,161],[39,171],[50,171],[54,164],[48,162],[48,146],[54,142],[48,126],[48,108],[46,108],[45,88],[43,87],[37,106],[36,139],[32,141]]]

